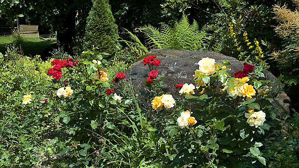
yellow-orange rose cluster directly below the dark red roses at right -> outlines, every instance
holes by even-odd
[[[221,89],[220,91],[224,91],[227,90],[228,94],[233,97],[236,98],[237,96],[243,96],[246,97],[247,99],[252,98],[252,96],[254,96],[256,94],[256,90],[253,88],[253,86],[251,84],[247,84],[246,82],[249,81],[248,77],[244,77],[244,78],[236,78],[236,80],[234,80],[234,86],[233,87],[228,87],[227,86],[227,82],[223,85],[224,88]]]

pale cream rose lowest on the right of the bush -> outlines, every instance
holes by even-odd
[[[250,126],[255,126],[256,128],[258,128],[258,126],[264,125],[264,122],[266,121],[266,113],[264,113],[262,110],[253,113],[245,113],[245,117],[248,118],[247,123]]]

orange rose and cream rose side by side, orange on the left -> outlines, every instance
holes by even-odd
[[[151,101],[151,107],[153,109],[161,109],[162,106],[165,108],[171,108],[174,106],[175,100],[171,94],[162,94],[161,96],[156,96]]]

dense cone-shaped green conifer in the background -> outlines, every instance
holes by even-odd
[[[108,0],[94,0],[87,17],[84,49],[94,51],[95,54],[106,52],[113,55],[119,45],[118,38],[118,27]]]

